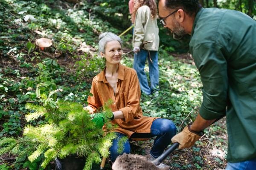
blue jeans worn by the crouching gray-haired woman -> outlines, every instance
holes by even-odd
[[[122,133],[116,132],[117,136],[119,138],[125,136]],[[168,119],[156,119],[153,121],[151,125],[151,132],[150,133],[133,133],[131,135],[131,138],[151,138],[154,136],[157,136],[157,138],[154,141],[154,145],[150,151],[150,154],[157,158],[160,156],[163,151],[166,149],[166,147],[172,142],[171,139],[173,136],[176,135],[176,126],[171,120]],[[118,146],[117,143],[119,141],[119,138],[116,138],[113,140],[113,145],[109,148],[110,151],[110,160],[114,162],[120,154],[117,153]],[[130,143],[127,142],[124,144],[124,150],[121,153],[127,153],[129,154],[131,150]]]

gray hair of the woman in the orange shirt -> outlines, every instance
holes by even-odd
[[[113,41],[113,40],[118,41],[122,47],[122,40],[116,34],[113,34],[112,32],[105,32],[100,34],[99,35],[99,54],[100,52],[105,54],[106,44],[109,41]]]

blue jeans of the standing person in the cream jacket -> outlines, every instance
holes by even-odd
[[[140,90],[147,95],[150,95],[158,90],[159,87],[159,70],[158,70],[158,56],[157,51],[149,51],[151,60],[149,59],[148,50],[140,49],[137,54],[134,54],[133,68],[136,70],[139,82]],[[144,71],[146,59],[148,58],[149,77],[151,81],[151,87],[148,86],[148,79]]]

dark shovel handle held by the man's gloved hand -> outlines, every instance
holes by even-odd
[[[212,124],[214,124],[215,122],[217,122],[218,120],[222,119],[223,117],[225,117],[226,114],[222,115],[221,117],[219,117],[218,119],[216,119],[214,122],[212,122]],[[211,125],[212,125],[211,124]],[[210,126],[210,125],[209,125]],[[154,161],[151,161],[154,165],[159,165],[162,161],[164,161],[173,151],[175,151],[175,149],[177,149],[180,146],[180,144],[178,142],[175,142],[174,144],[172,144],[171,147],[169,147],[164,153],[162,153],[157,159],[155,159]]]

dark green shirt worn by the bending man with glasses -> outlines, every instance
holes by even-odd
[[[189,48],[203,82],[201,117],[227,113],[227,161],[256,157],[256,21],[239,11],[201,8]]]

